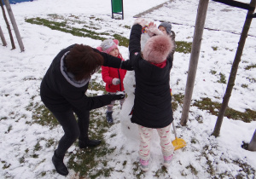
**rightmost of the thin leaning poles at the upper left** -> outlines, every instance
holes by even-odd
[[[10,7],[9,0],[3,0],[3,2],[5,3],[5,7],[8,11],[8,14],[9,14],[9,19],[11,20],[12,25],[14,27],[15,35],[16,35],[16,38],[17,38],[18,43],[20,45],[20,50],[22,52],[22,51],[24,51],[24,45],[22,43],[22,40],[21,40],[21,37],[20,37],[20,32],[19,32],[18,26],[17,26],[16,21],[15,21],[15,15],[13,14],[13,11]]]

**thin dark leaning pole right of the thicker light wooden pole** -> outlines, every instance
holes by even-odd
[[[251,0],[251,3],[250,3],[250,6],[254,7],[254,9],[255,9],[255,2],[256,2],[256,0]],[[219,131],[220,131],[221,124],[222,124],[222,121],[224,118],[224,114],[225,114],[226,108],[228,107],[228,104],[230,101],[230,96],[231,96],[231,93],[233,90],[233,86],[235,85],[236,73],[237,73],[238,65],[241,61],[242,50],[243,50],[244,44],[247,39],[247,34],[250,29],[251,22],[253,20],[252,15],[253,15],[254,9],[248,10],[248,12],[247,12],[247,18],[245,20],[244,26],[241,31],[241,37],[240,37],[238,47],[236,50],[235,60],[233,61],[233,65],[231,68],[229,82],[228,82],[228,85],[227,85],[227,88],[225,91],[225,95],[224,95],[224,98],[223,98],[223,101],[222,101],[222,104],[221,104],[221,107],[220,107],[220,110],[218,113],[218,118],[217,118],[217,121],[215,124],[215,128],[213,130],[212,136],[216,136],[216,137],[219,136]]]

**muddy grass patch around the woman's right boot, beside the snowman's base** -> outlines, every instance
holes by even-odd
[[[98,113],[97,110],[90,111],[89,136],[91,139],[101,139],[102,143],[98,147],[87,147],[79,150],[76,154],[71,154],[68,167],[76,171],[79,176],[108,177],[114,170],[113,167],[108,166],[108,160],[104,160],[104,156],[115,150],[103,140],[103,135],[107,132],[108,127],[109,124],[105,118],[102,118],[102,113]]]

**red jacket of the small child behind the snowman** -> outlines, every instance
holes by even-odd
[[[122,61],[125,61],[121,55],[118,56]],[[108,92],[115,93],[117,91],[123,91],[125,90],[123,80],[125,78],[126,70],[123,69],[117,69],[113,67],[108,66],[102,66],[102,79],[106,83],[105,89]],[[119,78],[120,84],[113,85],[112,79],[113,78]],[[121,90],[120,90],[121,87]]]

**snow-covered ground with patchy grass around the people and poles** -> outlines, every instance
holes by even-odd
[[[249,0],[240,1],[250,2]],[[32,102],[40,104],[38,92],[41,79],[50,62],[61,49],[73,43],[84,43],[96,48],[102,42],[54,31],[46,26],[32,25],[25,19],[46,18],[48,14],[66,17],[73,14],[84,17],[84,20],[89,20],[90,16],[96,16],[103,20],[102,24],[98,25],[101,27],[100,31],[119,32],[125,38],[129,38],[130,30],[124,26],[132,25],[133,16],[165,2],[169,3],[152,13],[144,14],[143,17],[147,20],[154,20],[156,24],[160,23],[159,20],[171,21],[172,30],[176,32],[176,40],[192,42],[199,2],[197,0],[124,1],[125,20],[111,19],[111,3],[106,0],[75,0],[73,2],[35,0],[11,4],[26,50],[20,52],[16,40],[16,49],[11,50],[9,33],[5,28],[3,15],[1,15],[0,26],[8,46],[3,47],[0,42],[0,178],[64,178],[53,172],[51,157],[54,146],[44,147],[47,139],[53,138],[58,141],[61,138],[63,134],[61,126],[49,129],[49,126],[30,124],[33,113],[27,110],[27,107]],[[209,2],[193,100],[208,97],[212,101],[222,102],[226,84],[218,83],[219,73],[222,73],[228,81],[246,14],[247,11],[244,9]],[[14,32],[13,35],[15,37]],[[119,50],[127,59],[128,49],[119,47]],[[255,54],[256,21],[253,19],[229,103],[229,107],[240,112],[245,112],[247,108],[256,110],[256,69],[255,67],[250,70],[245,69],[246,66],[255,66]],[[189,55],[177,52],[174,55],[170,82],[173,94],[184,94]],[[94,78],[103,84],[100,77],[96,74]],[[116,118],[116,124],[109,128],[104,137],[109,147],[116,148],[113,153],[105,157],[109,160],[108,165],[117,167],[109,178],[136,178],[139,171],[134,172],[133,168],[136,166],[133,163],[137,162],[138,141],[122,133],[122,123],[119,123],[119,107],[115,109],[113,117]],[[103,122],[105,108],[102,107],[98,111],[102,113]],[[157,176],[159,178],[211,178],[221,177],[221,174],[224,174],[224,178],[236,176],[255,178],[256,153],[241,148],[242,141],[248,143],[253,136],[256,129],[255,118],[251,123],[224,118],[220,136],[215,138],[211,134],[216,123],[216,116],[197,107],[190,107],[187,125],[180,126],[181,112],[182,107],[177,107],[174,118],[177,124],[177,135],[187,141],[187,146],[175,152],[172,165],[166,173],[156,175],[162,163],[159,141],[156,137],[152,144],[151,168],[147,173],[140,175],[140,178],[156,178]],[[201,121],[198,118],[201,118]],[[117,135],[112,136],[113,134]],[[38,141],[42,149],[34,152],[39,157],[33,158],[31,155]],[[77,150],[79,148],[73,146],[69,152],[75,153]],[[127,153],[131,154],[127,156]],[[127,165],[120,165],[125,160]],[[65,159],[65,162],[67,161],[68,158]],[[251,175],[245,173],[246,169],[243,169],[237,162],[249,167],[253,171]],[[214,172],[211,173],[209,170],[214,170]],[[73,178],[73,175],[73,170],[70,170],[67,178]]]

